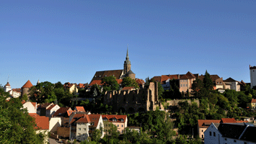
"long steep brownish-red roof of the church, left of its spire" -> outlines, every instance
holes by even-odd
[[[110,70],[110,71],[96,71],[94,74],[92,81],[94,80],[102,80],[102,78],[106,76],[115,76],[115,79],[120,79],[123,74],[123,70]],[[91,83],[92,83],[91,81]]]

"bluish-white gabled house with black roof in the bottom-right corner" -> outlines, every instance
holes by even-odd
[[[250,123],[211,123],[204,132],[204,142],[208,144],[216,143],[256,143],[255,130]]]

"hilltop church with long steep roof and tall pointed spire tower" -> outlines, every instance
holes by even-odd
[[[132,79],[136,79],[135,73],[133,73],[133,71],[131,71],[131,61],[129,60],[128,48],[127,48],[125,62],[123,64],[123,69],[110,70],[110,71],[97,71],[94,74],[89,86],[92,86],[93,84],[100,84],[102,81],[102,78],[107,77],[107,76],[114,76],[115,79],[117,79],[117,80],[123,79],[125,77],[130,77]]]

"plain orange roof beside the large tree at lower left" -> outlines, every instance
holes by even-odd
[[[30,116],[35,118],[35,128],[39,128],[39,130],[49,130],[49,117],[39,116],[35,113],[30,113]]]

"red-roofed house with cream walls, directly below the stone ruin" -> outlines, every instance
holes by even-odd
[[[105,127],[105,135],[107,135],[107,130],[110,127],[110,123],[118,127],[118,132],[120,134],[123,134],[125,132],[125,127],[127,127],[128,119],[127,115],[105,115],[102,114],[102,119],[104,122],[104,127]]]

